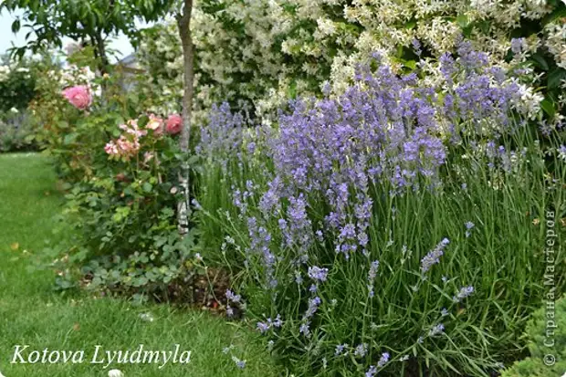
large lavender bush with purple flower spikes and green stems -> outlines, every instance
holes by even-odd
[[[437,68],[376,55],[277,128],[226,105],[204,128],[203,256],[298,375],[479,376],[518,355],[543,292],[533,220],[564,216],[566,170],[548,179],[558,151],[523,127],[516,79],[466,44]]]

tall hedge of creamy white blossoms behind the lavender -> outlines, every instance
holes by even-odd
[[[309,96],[330,82],[343,91],[354,69],[379,51],[393,68],[403,68],[399,47],[418,40],[439,57],[453,51],[463,31],[491,63],[502,68],[526,61],[545,46],[566,68],[566,26],[556,20],[524,40],[521,53],[506,62],[509,33],[521,18],[540,20],[552,11],[547,0],[243,0],[222,2],[222,10],[196,4],[195,107],[236,98],[250,99],[267,113],[294,95]],[[474,27],[468,27],[474,26]],[[142,65],[155,75],[165,96],[181,97],[182,53],[177,26],[169,20],[146,38]],[[163,63],[165,62],[165,63]],[[432,67],[432,66],[431,66]],[[527,72],[529,67],[524,68]],[[428,72],[431,80],[440,73]],[[525,107],[538,109],[540,95],[523,83]]]

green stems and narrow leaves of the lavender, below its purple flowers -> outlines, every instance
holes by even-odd
[[[535,144],[529,144],[528,156],[533,163],[516,174],[489,172],[487,161],[470,161],[469,155],[466,160],[455,158],[450,165],[457,165],[458,173],[446,177],[443,193],[438,195],[416,192],[387,199],[392,187],[387,183],[373,186],[375,197],[385,198],[374,204],[372,215],[369,253],[379,257],[381,271],[375,296],[367,295],[368,257],[358,253],[344,266],[333,265],[338,257],[329,246],[331,240],[318,242],[309,250],[309,263],[334,267],[317,290],[322,304],[310,327],[319,328],[310,338],[298,330],[307,310],[305,287],[311,280],[303,275],[303,286],[289,283],[270,294],[264,277],[257,273],[265,268],[261,256],[252,261],[246,257],[246,248],[253,242],[247,219],[260,216],[260,197],[247,202],[245,217],[238,215],[231,202],[230,187],[243,192],[246,182],[253,182],[265,189],[267,183],[258,173],[266,169],[263,158],[252,158],[243,167],[230,162],[228,174],[218,165],[204,165],[199,197],[202,253],[234,271],[249,317],[265,321],[281,315],[284,325],[268,331],[266,340],[276,342],[274,356],[298,375],[360,375],[367,365],[364,369],[365,359],[354,357],[353,352],[365,342],[372,360],[379,359],[379,352],[392,355],[380,375],[487,376],[521,355],[521,331],[543,297],[544,258],[532,252],[544,245],[543,228],[536,219],[542,221],[545,208],[554,206],[561,207],[564,216],[563,194],[551,194],[545,187],[545,172],[538,163],[543,156]],[[557,179],[564,182],[566,172],[561,166]],[[466,177],[466,190],[461,188],[461,177]],[[324,210],[320,198],[309,200],[309,214]],[[476,228],[466,237],[468,220]],[[559,231],[563,240],[566,232],[563,227]],[[267,234],[277,240],[271,252],[287,256],[278,259],[275,278],[287,282],[297,256],[290,248],[278,248],[278,232],[277,221],[267,225]],[[421,280],[419,263],[443,236],[450,239],[445,259],[430,278]],[[557,277],[563,276],[563,263],[560,266]],[[565,283],[559,278],[557,290]],[[466,302],[455,303],[452,298],[464,286],[473,286],[474,294]],[[428,336],[438,323],[444,324],[445,334]],[[556,340],[566,344],[561,336]],[[342,343],[349,345],[348,354],[337,356],[335,347]]]

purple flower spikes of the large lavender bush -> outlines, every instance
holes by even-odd
[[[414,48],[421,49],[418,41]],[[308,268],[312,294],[302,298],[308,302],[299,303],[308,305],[299,329],[306,336],[308,320],[314,323],[321,305],[320,297],[315,297],[320,288],[315,288],[330,279],[328,269],[309,267],[316,263],[309,262],[312,247],[332,248],[337,257],[351,261],[359,260],[355,254],[368,255],[375,242],[371,236],[377,212],[374,203],[381,205],[387,194],[442,189],[451,143],[465,136],[498,141],[515,123],[509,113],[519,93],[517,84],[505,79],[505,71],[488,67],[487,56],[469,43],[459,46],[457,58],[446,54],[439,59],[442,82],[438,86],[415,74],[400,76],[380,57],[374,58],[377,68],[356,68],[354,84],[337,98],[330,98],[327,91],[320,100],[291,101],[289,110],[278,114],[277,130],[246,130],[243,113],[232,113],[226,104],[215,108],[209,117],[211,127],[203,128],[197,148],[205,161],[220,160],[223,177],[236,178],[232,199],[239,220],[247,225],[242,241],[245,263],[257,268],[251,272],[261,279],[270,299],[282,299],[277,297],[281,289],[271,289],[278,287],[278,278],[287,283],[290,273],[291,279],[302,284],[300,271],[304,274]],[[508,166],[510,152],[493,147],[488,151],[493,163]],[[265,153],[266,163],[258,161],[264,160],[257,159],[259,152]],[[245,161],[252,157],[253,165]],[[252,166],[266,173],[256,182],[246,182],[245,170]],[[376,186],[391,190],[376,196]],[[466,184],[462,189],[466,190]],[[447,244],[443,240],[422,258],[423,277],[440,262]],[[379,263],[373,261],[366,282],[371,297],[378,269]],[[309,285],[296,288],[307,290]],[[459,292],[455,298],[469,294]],[[234,300],[232,295],[228,300]],[[441,313],[444,316],[446,311]],[[266,319],[257,328],[273,330],[280,322]],[[386,359],[383,364],[389,354]],[[379,369],[372,368],[371,375]]]

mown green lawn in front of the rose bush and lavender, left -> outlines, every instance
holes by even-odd
[[[257,334],[204,312],[162,306],[133,306],[87,293],[62,296],[53,290],[50,271],[30,269],[53,239],[53,216],[62,203],[55,175],[37,154],[0,155],[0,372],[5,377],[106,376],[112,368],[129,376],[261,376],[276,375],[257,343]],[[154,320],[141,318],[151,313]],[[105,351],[189,350],[188,364],[121,364],[103,369],[91,364],[95,346]],[[223,349],[246,360],[239,369]],[[11,364],[16,345],[31,351],[84,351],[82,363]],[[33,354],[31,355],[33,356]],[[55,356],[53,356],[55,357]],[[77,355],[79,357],[79,355]],[[19,360],[18,360],[19,361]],[[78,360],[79,361],[79,360]]]

